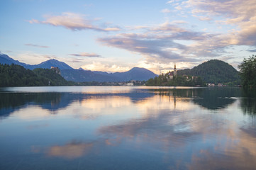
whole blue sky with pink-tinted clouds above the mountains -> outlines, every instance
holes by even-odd
[[[26,64],[156,74],[256,53],[255,0],[0,0],[0,52]]]

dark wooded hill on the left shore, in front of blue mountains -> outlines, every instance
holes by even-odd
[[[0,64],[0,86],[67,86],[74,84],[51,69],[25,69],[16,64]]]

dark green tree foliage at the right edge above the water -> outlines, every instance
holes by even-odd
[[[256,87],[256,56],[252,55],[248,59],[244,59],[238,66],[240,69],[240,77],[244,87]]]

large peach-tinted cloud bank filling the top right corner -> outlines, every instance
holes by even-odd
[[[208,21],[217,16],[222,20],[216,21],[216,23],[235,26],[228,34],[218,36],[218,40],[225,41],[227,39],[223,46],[256,45],[256,16],[252,14],[256,11],[256,1],[189,0],[187,4],[193,8],[192,13],[201,14],[199,18],[203,20]]]

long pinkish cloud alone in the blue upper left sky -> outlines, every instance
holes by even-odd
[[[85,18],[84,15],[79,13],[62,13],[60,16],[45,16],[45,21],[38,21],[32,19],[29,23],[42,23],[49,24],[52,26],[62,26],[69,30],[96,30],[96,31],[119,31],[121,28],[118,27],[100,27],[93,24],[94,20]]]

